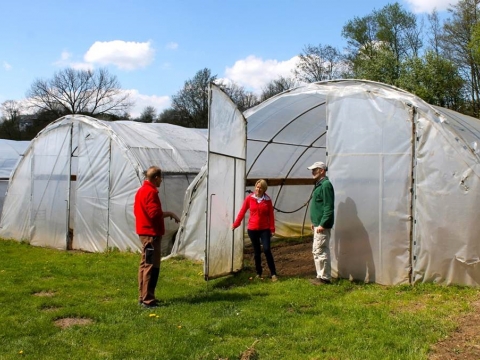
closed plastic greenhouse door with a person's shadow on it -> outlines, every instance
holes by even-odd
[[[335,188],[332,269],[341,278],[409,282],[412,109],[371,92],[327,99]]]

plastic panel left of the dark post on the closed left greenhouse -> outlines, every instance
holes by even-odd
[[[31,240],[35,246],[66,249],[71,127],[39,136],[32,159]]]

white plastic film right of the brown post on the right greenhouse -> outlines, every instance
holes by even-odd
[[[479,159],[447,123],[428,117],[417,123],[413,282],[478,286]]]

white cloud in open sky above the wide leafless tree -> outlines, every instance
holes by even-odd
[[[134,70],[149,65],[155,55],[150,41],[96,41],[87,53],[84,60],[91,64],[115,65],[119,69]]]

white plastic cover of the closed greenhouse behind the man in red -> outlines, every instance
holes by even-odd
[[[160,166],[165,211],[181,199],[206,162],[199,131],[169,124],[63,117],[32,140],[5,199],[0,236],[59,249],[139,250],[133,200],[143,171]],[[178,225],[166,219],[168,243]]]

